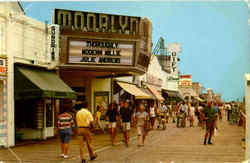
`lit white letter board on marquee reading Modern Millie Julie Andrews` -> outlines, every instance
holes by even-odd
[[[132,65],[134,44],[118,41],[70,40],[68,63]]]

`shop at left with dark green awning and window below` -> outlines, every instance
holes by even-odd
[[[75,92],[55,71],[21,64],[14,70],[16,141],[53,137],[56,105],[62,99],[75,99]]]

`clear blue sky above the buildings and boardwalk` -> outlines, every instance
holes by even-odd
[[[152,41],[181,44],[179,70],[226,101],[245,95],[249,66],[248,5],[245,2],[21,2],[25,13],[51,23],[54,8],[148,17]]]

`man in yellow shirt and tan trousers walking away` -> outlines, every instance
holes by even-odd
[[[80,140],[80,158],[82,163],[86,162],[86,159],[84,158],[84,141],[87,143],[90,160],[94,160],[97,157],[97,154],[94,153],[92,147],[91,130],[94,128],[94,118],[87,108],[88,103],[83,102],[81,105],[81,110],[76,113],[76,123]]]

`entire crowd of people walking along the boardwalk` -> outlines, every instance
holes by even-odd
[[[232,109],[233,108],[235,109]],[[61,140],[61,157],[68,158],[68,144],[70,135],[72,134],[72,127],[77,126],[79,144],[80,144],[80,157],[82,163],[86,162],[84,158],[84,142],[87,143],[90,159],[94,160],[97,155],[94,153],[92,147],[92,134],[95,128],[99,128],[103,133],[108,128],[110,134],[111,144],[115,144],[115,138],[119,129],[123,132],[124,143],[129,147],[130,130],[131,128],[137,129],[137,146],[143,147],[146,136],[150,130],[156,128],[166,129],[166,123],[176,123],[178,128],[199,126],[205,129],[204,145],[212,144],[212,137],[215,130],[218,130],[217,121],[222,120],[223,110],[228,113],[228,119],[234,119],[234,114],[237,110],[236,105],[215,102],[204,103],[190,103],[182,101],[175,105],[167,103],[154,102],[147,105],[146,103],[132,104],[131,101],[121,100],[119,105],[112,102],[106,112],[104,113],[104,120],[107,125],[101,122],[103,110],[97,106],[94,115],[87,109],[86,102],[81,104],[80,110],[77,111],[75,116],[69,114],[69,109],[62,109],[62,114],[58,117],[58,129]],[[74,118],[75,117],[75,118]],[[157,121],[157,123],[156,123]],[[197,124],[194,122],[197,121]],[[76,124],[74,123],[76,122]],[[156,125],[157,124],[157,125]]]

